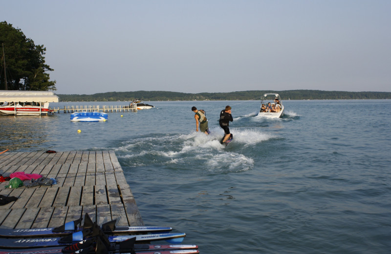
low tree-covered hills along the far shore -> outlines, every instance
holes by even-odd
[[[226,93],[180,93],[169,91],[106,92],[95,94],[57,94],[63,102],[105,102],[105,101],[218,101],[260,99],[265,93],[278,93],[282,100],[350,100],[350,99],[391,99],[391,92],[346,92],[321,90],[285,91],[237,91]]]

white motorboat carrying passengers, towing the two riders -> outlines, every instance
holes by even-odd
[[[258,116],[280,118],[283,114],[280,95],[277,93],[265,93],[261,98],[261,109]]]

